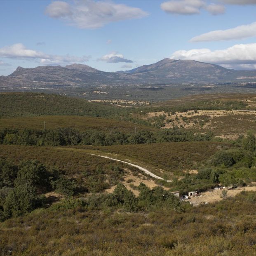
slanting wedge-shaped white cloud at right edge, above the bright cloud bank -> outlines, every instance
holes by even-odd
[[[202,35],[198,35],[190,40],[190,42],[205,42],[205,41],[221,41],[244,39],[256,36],[256,22],[249,25],[242,25],[226,30],[211,31]]]

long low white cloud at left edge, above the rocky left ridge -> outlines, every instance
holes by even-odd
[[[65,64],[88,61],[89,56],[70,56],[70,55],[53,55],[45,54],[35,50],[27,49],[25,45],[17,43],[0,48],[0,57],[11,59],[28,59],[38,61],[44,65],[48,64]]]

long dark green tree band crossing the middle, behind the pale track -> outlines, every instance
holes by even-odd
[[[124,144],[144,144],[181,141],[210,141],[211,133],[200,134],[181,130],[164,129],[156,132],[140,130],[133,133],[118,131],[87,130],[80,132],[74,128],[57,129],[3,129],[0,130],[0,144],[26,146],[111,146]]]

